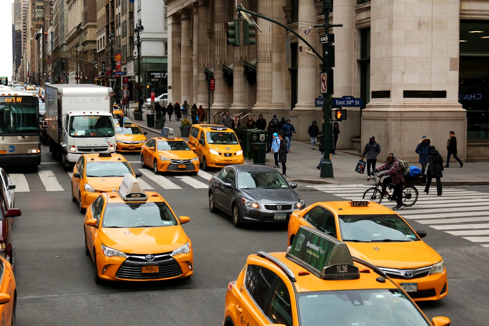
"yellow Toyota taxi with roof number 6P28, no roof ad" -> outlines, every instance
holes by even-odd
[[[439,300],[448,294],[445,263],[391,209],[368,200],[317,202],[292,212],[288,243],[299,227],[311,226],[346,242],[353,256],[378,266],[415,301]]]

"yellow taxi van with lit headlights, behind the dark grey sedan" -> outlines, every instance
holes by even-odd
[[[202,170],[243,164],[244,156],[234,130],[219,125],[192,125],[188,143],[199,157]]]

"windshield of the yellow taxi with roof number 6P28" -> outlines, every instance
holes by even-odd
[[[418,236],[397,214],[340,215],[343,241],[389,242],[417,241]]]

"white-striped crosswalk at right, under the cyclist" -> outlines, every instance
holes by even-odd
[[[363,193],[371,187],[364,184],[310,186],[347,200],[361,199]],[[423,192],[424,187],[417,189],[420,193],[418,201],[413,206],[398,211],[402,217],[489,247],[488,193],[468,188],[445,187],[443,195],[436,196],[436,188],[431,188],[433,194],[429,195]],[[396,202],[383,199],[381,204],[392,208]]]

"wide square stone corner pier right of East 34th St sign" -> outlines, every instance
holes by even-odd
[[[458,103],[458,0],[371,3],[372,99],[362,111],[362,143],[371,134],[382,149],[418,162],[422,135],[445,156],[448,132],[465,160],[466,110]]]

